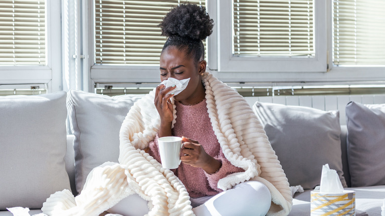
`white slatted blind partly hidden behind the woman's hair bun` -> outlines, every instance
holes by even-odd
[[[157,25],[178,3],[184,1],[95,0],[95,64],[159,64],[166,37]]]

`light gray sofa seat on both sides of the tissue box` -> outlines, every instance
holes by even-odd
[[[346,190],[355,191],[356,214],[366,212],[368,216],[381,216],[381,206],[385,198],[385,185],[369,187],[349,187]],[[296,193],[293,199],[293,207],[289,216],[310,215],[310,192]]]

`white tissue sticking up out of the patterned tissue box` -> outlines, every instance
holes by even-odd
[[[331,170],[329,164],[322,166],[320,193],[344,193],[344,187],[338,177],[337,171]]]

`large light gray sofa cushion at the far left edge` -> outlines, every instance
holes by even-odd
[[[71,189],[66,172],[66,93],[0,97],[0,210],[40,209]]]

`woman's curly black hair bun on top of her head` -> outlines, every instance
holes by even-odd
[[[196,4],[173,7],[159,24],[162,36],[182,36],[204,40],[213,32],[214,21],[206,8]]]

